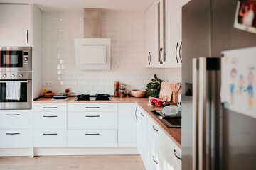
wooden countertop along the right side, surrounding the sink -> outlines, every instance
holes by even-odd
[[[142,110],[149,115],[149,117],[154,120],[154,122],[159,125],[159,127],[164,130],[166,135],[171,137],[171,140],[176,143],[178,147],[181,148],[181,128],[167,128],[164,123],[162,123],[155,115],[153,115],[150,111],[152,110],[161,110],[162,108],[158,108],[155,106],[148,106],[147,101],[136,101],[136,103],[142,108]]]

